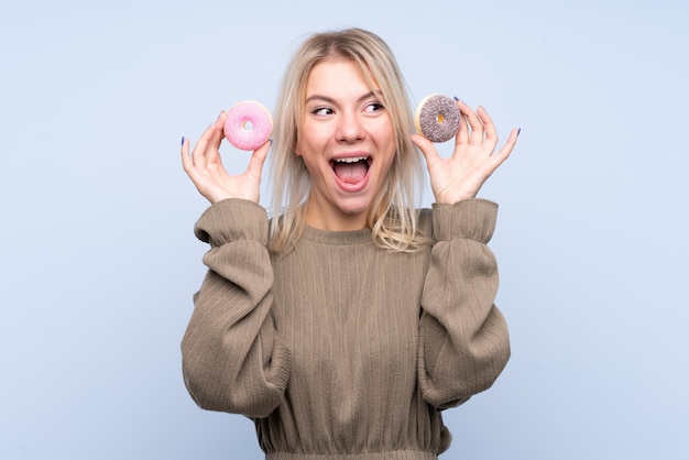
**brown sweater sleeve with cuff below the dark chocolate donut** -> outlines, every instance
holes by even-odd
[[[418,380],[438,408],[489,388],[510,358],[494,305],[497,265],[486,247],[497,205],[483,199],[434,205],[430,262],[422,295]]]

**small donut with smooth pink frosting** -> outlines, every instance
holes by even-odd
[[[244,100],[227,112],[225,136],[239,150],[256,150],[271,138],[273,117],[263,105]]]

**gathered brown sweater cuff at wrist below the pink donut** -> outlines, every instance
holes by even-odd
[[[196,237],[219,247],[238,240],[267,245],[267,213],[260,205],[245,199],[223,199],[211,205],[194,226]]]

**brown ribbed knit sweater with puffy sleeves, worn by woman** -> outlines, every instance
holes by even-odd
[[[450,442],[440,409],[491,386],[510,357],[485,245],[496,209],[422,210],[434,244],[412,254],[368,229],[307,227],[278,256],[263,208],[211,206],[195,228],[209,270],[182,342],[192,397],[253,418],[270,460],[436,459]]]

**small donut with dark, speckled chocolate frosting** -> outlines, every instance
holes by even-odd
[[[431,142],[449,141],[457,134],[461,112],[452,98],[430,95],[416,107],[416,131]]]

